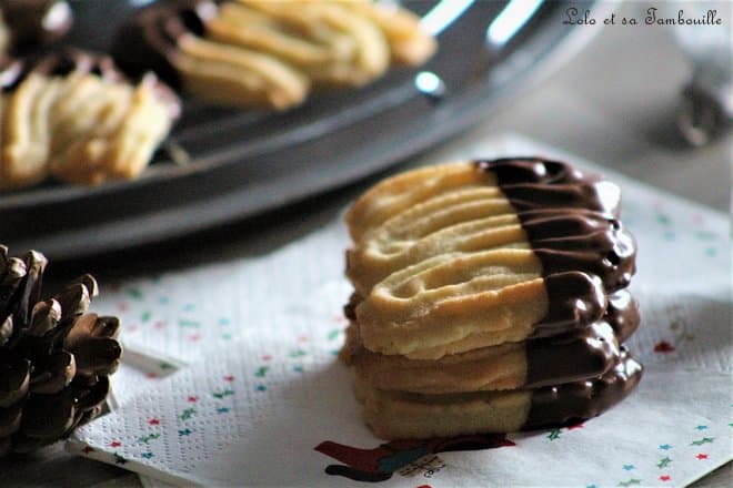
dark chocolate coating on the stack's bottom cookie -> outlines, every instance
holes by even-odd
[[[572,425],[601,415],[639,384],[642,366],[622,349],[616,366],[595,379],[532,390],[523,430]]]

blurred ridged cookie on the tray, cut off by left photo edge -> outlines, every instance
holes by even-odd
[[[109,57],[78,50],[16,60],[0,82],[0,189],[49,175],[83,184],[132,179],[180,110],[154,75],[133,84]]]

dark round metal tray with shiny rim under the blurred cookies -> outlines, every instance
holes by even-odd
[[[524,0],[405,3],[433,16],[435,30],[443,27],[438,54],[419,70],[395,70],[363,89],[317,93],[287,113],[187,100],[171,142],[190,155],[189,164],[174,164],[161,151],[132,182],[49,183],[0,194],[0,242],[14,253],[37,248],[54,258],[79,257],[182,235],[338,187],[486,116],[573,31],[562,23],[565,2],[540,1],[534,9]],[[71,42],[100,50],[113,23],[132,8],[119,1],[72,6],[79,21]],[[434,82],[433,75],[444,84],[442,96],[419,89],[420,82]]]

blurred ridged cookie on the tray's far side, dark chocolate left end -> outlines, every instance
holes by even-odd
[[[362,85],[418,65],[435,41],[409,11],[369,0],[168,0],[120,30],[114,57],[209,102],[284,110],[315,85]]]

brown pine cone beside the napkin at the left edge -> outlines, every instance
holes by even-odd
[[[91,275],[40,301],[48,261],[0,245],[0,456],[28,453],[97,416],[120,363],[117,317],[87,313]]]

